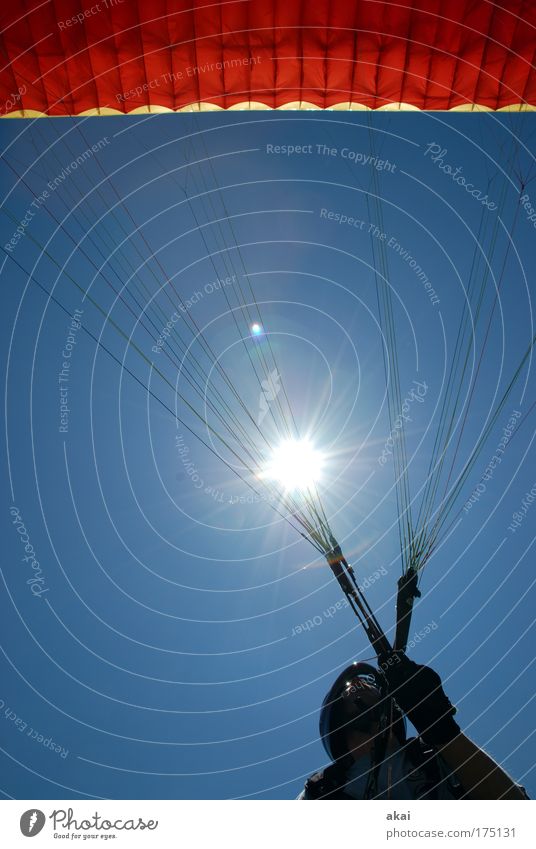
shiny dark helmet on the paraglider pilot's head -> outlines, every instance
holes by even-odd
[[[355,692],[356,680],[361,680],[364,684],[376,688],[380,694],[376,706],[368,709],[364,706],[365,710],[370,711],[370,719],[388,719],[392,710],[393,733],[400,743],[403,743],[406,739],[403,715],[389,696],[387,683],[381,672],[369,663],[354,662],[337,676],[320,708],[320,739],[333,761],[347,754],[345,737],[349,728],[349,721],[344,713],[343,694],[345,691],[348,693]],[[359,697],[356,701],[359,703]]]

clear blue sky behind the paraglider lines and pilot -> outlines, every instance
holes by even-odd
[[[180,296],[256,417],[246,347],[268,357],[269,337],[300,432],[326,455],[331,526],[389,631],[400,558],[393,467],[378,462],[390,425],[371,245],[385,234],[402,396],[426,386],[407,424],[418,499],[471,269],[483,294],[468,374],[483,354],[461,457],[534,334],[532,117],[220,113],[13,120],[1,132],[2,791],[292,798],[325,762],[325,691],[370,647],[351,612],[334,608],[340,591],[322,558],[158,403],[175,408],[175,385],[195,395],[167,356],[179,343],[152,348]],[[375,176],[382,222],[367,209]],[[244,285],[249,275],[268,336],[249,338],[235,311],[237,328],[233,274]],[[199,340],[192,354],[214,368]],[[223,394],[215,368],[210,385]],[[531,794],[533,398],[527,367],[424,571],[411,631],[411,655],[440,672],[462,727]],[[501,462],[464,511],[514,411]],[[27,583],[22,522],[41,595]]]

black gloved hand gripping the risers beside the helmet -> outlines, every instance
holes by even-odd
[[[460,733],[453,719],[456,708],[445,695],[437,672],[414,663],[404,652],[393,652],[382,669],[390,694],[425,743],[442,746]]]

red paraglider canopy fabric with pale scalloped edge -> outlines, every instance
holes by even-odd
[[[536,106],[534,0],[18,0],[1,114]]]

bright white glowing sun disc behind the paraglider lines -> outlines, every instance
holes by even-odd
[[[317,483],[322,467],[322,454],[309,440],[289,439],[274,449],[262,477],[276,481],[291,492]]]

